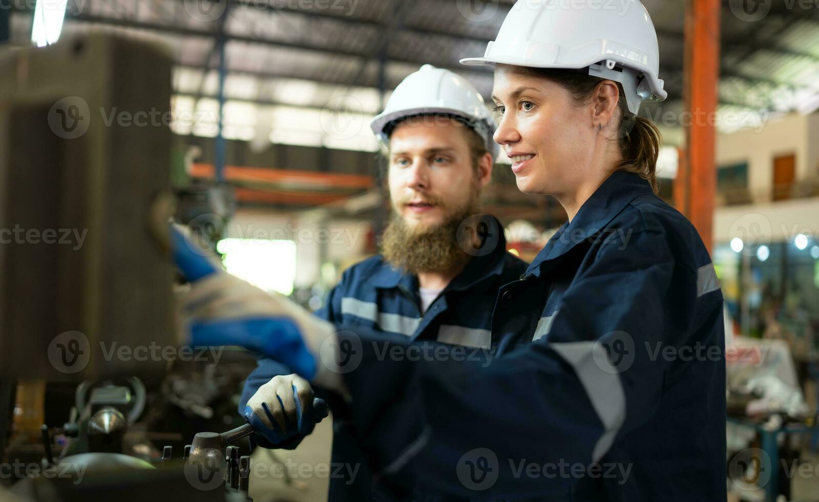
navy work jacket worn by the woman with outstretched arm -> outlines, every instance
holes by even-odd
[[[398,495],[726,500],[722,292],[637,174],[612,174],[501,288],[490,364],[396,357],[407,341],[350,328],[352,423]]]

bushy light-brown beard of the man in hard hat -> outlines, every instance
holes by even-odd
[[[468,261],[470,256],[458,242],[458,228],[464,219],[480,212],[480,189],[470,189],[468,203],[459,210],[439,206],[446,211],[441,224],[412,227],[393,211],[381,243],[387,263],[409,274],[419,274],[448,272]]]

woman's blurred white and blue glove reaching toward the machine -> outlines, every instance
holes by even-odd
[[[207,251],[171,225],[174,262],[191,281],[182,314],[192,346],[242,346],[285,364],[323,387],[340,390],[340,372],[320,364],[319,349],[336,337],[333,324],[228,274]],[[337,345],[337,344],[336,344]]]

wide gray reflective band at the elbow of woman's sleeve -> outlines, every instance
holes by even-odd
[[[550,347],[572,365],[603,423],[604,432],[591,454],[591,461],[598,462],[609,451],[626,420],[626,392],[622,389],[618,369],[609,361],[604,346],[595,341],[553,343]],[[606,367],[600,368],[601,365]]]

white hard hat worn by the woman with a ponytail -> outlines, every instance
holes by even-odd
[[[657,33],[639,0],[519,0],[484,57],[464,65],[501,63],[532,68],[577,69],[622,84],[628,109],[645,99],[663,101]]]

